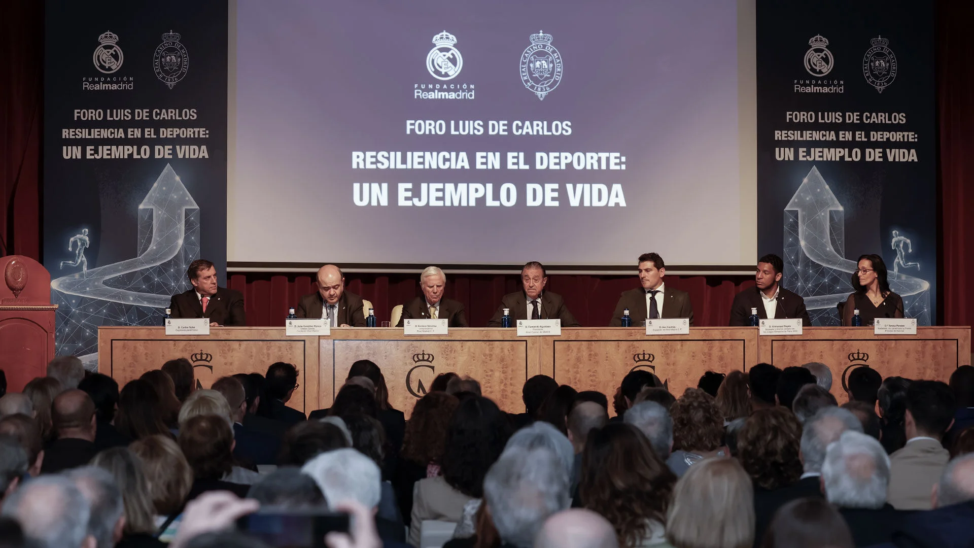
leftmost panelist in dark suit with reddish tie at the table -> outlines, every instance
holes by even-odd
[[[205,258],[189,263],[186,270],[193,289],[172,295],[171,318],[209,318],[210,326],[245,326],[244,294],[216,285],[216,266]]]

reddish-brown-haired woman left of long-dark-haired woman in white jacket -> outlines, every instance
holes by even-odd
[[[402,516],[409,525],[416,482],[439,476],[439,463],[446,446],[446,429],[460,402],[446,392],[430,392],[416,401],[406,423],[393,488]]]

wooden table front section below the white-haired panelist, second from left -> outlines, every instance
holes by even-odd
[[[405,336],[401,329],[332,330],[320,339],[322,407],[330,406],[356,360],[382,368],[389,402],[408,417],[441,372],[469,375],[484,396],[508,412],[524,412],[521,389],[539,371],[538,337],[514,330],[451,329],[446,336]]]

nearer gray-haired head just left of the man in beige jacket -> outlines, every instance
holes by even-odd
[[[841,508],[882,508],[889,456],[875,438],[846,430],[825,451],[822,485],[829,502]]]

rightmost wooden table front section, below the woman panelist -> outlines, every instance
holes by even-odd
[[[848,373],[873,368],[883,378],[947,380],[969,363],[969,327],[920,327],[916,335],[876,335],[872,328],[805,328],[801,336],[761,337],[761,361],[784,369],[821,362],[832,371],[832,394],[840,403]]]

